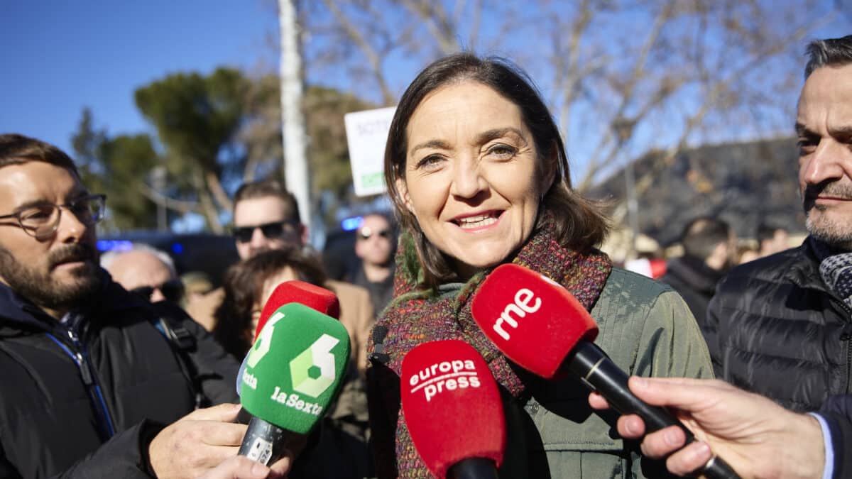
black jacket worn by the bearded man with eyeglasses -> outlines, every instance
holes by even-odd
[[[76,334],[0,284],[0,477],[148,476],[150,440],[195,407],[193,377],[211,402],[236,400],[238,365],[209,334],[101,275]],[[195,347],[179,352],[161,317]]]

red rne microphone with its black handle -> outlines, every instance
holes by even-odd
[[[474,320],[519,366],[544,378],[578,376],[621,414],[638,414],[648,432],[671,425],[693,434],[671,413],[636,397],[629,376],[592,343],[595,320],[573,295],[554,280],[517,264],[494,268],[471,305]],[[700,472],[711,479],[739,478],[721,458],[713,457]]]

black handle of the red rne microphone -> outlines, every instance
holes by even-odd
[[[579,341],[568,356],[567,366],[591,390],[606,398],[613,409],[621,414],[637,414],[642,418],[648,432],[676,425],[686,435],[686,444],[695,441],[693,433],[665,408],[651,406],[636,397],[627,387],[627,373],[616,366],[595,343]],[[740,479],[734,469],[718,456],[713,456],[697,472],[709,479]]]

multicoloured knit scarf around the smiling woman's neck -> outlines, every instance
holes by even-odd
[[[389,355],[390,369],[399,376],[402,358],[417,344],[463,339],[485,358],[499,384],[511,395],[521,395],[524,391],[521,379],[509,367],[505,356],[481,332],[470,313],[471,299],[487,271],[471,278],[458,295],[439,297],[434,291],[414,291],[422,271],[413,252],[410,235],[400,238],[396,261],[395,292],[404,294],[394,299],[376,324],[377,327],[387,328],[383,352]],[[581,254],[563,248],[556,241],[554,228],[550,224],[534,232],[533,238],[521,248],[512,263],[532,268],[556,280],[571,291],[586,309],[591,309],[597,301],[613,268],[609,257],[601,251]],[[397,411],[388,413],[395,417]],[[378,433],[374,431],[374,434]],[[417,455],[401,411],[395,436],[395,459],[400,477],[431,477]]]

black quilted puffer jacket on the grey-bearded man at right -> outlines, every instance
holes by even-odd
[[[702,331],[718,378],[795,411],[849,394],[852,311],[820,276],[809,241],[734,268]]]

